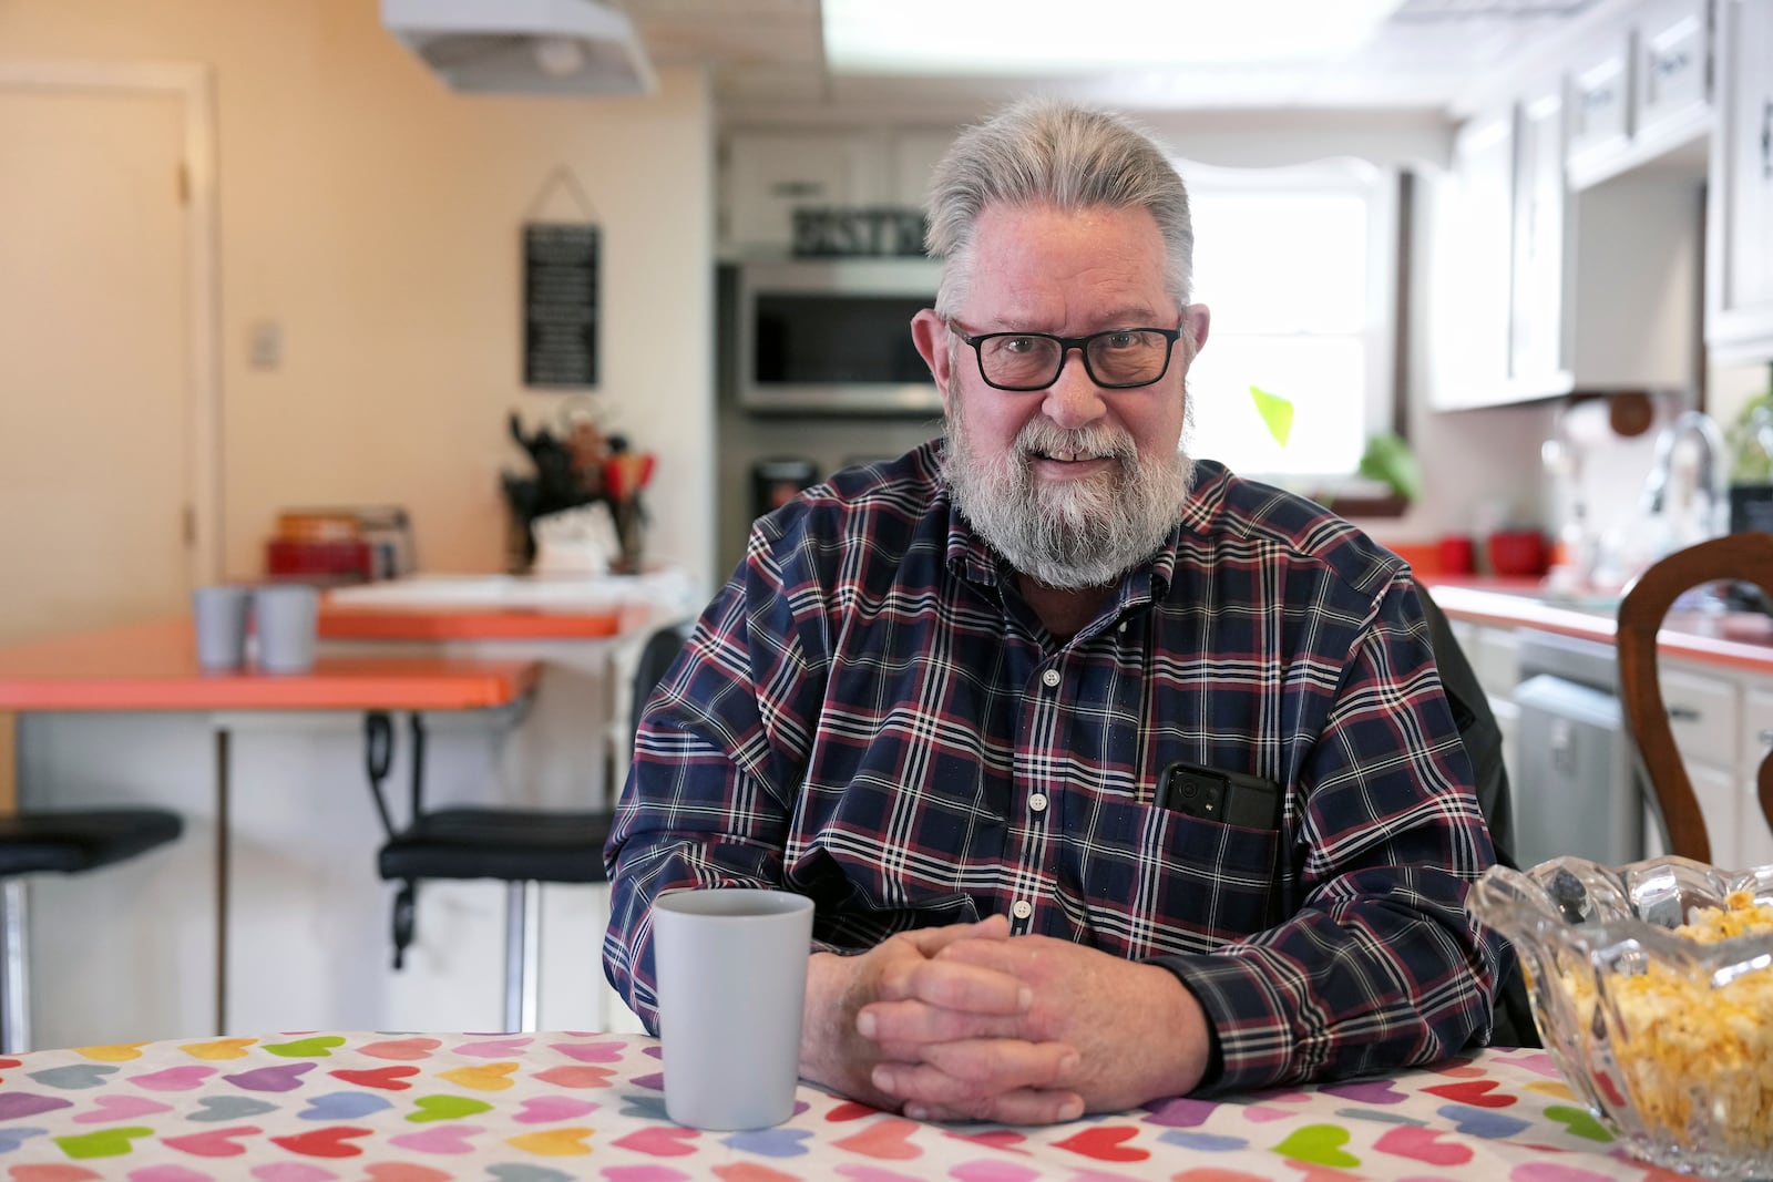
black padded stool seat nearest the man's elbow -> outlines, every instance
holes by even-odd
[[[610,813],[440,808],[418,813],[378,856],[383,879],[603,883]]]

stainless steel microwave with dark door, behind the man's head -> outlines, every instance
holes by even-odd
[[[940,415],[911,344],[936,303],[929,259],[741,262],[734,363],[739,404],[761,413]]]

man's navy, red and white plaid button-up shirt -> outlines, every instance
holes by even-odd
[[[1174,760],[1285,785],[1280,831],[1156,806]],[[810,895],[832,952],[1004,913],[1161,964],[1220,1088],[1443,1058],[1511,955],[1463,913],[1493,852],[1408,567],[1211,461],[1066,642],[940,443],[762,517],[652,695],[605,861],[605,969],[652,1030],[647,909],[688,884]]]

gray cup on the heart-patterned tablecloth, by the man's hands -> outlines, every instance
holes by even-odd
[[[691,1129],[764,1129],[794,1113],[812,900],[679,890],[652,900],[665,1113]]]

